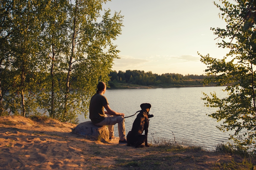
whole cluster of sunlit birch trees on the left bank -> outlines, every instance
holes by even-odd
[[[108,0],[0,2],[0,115],[86,115],[98,81],[118,58],[120,12]],[[103,15],[101,15],[103,13]]]

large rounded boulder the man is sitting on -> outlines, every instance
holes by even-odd
[[[91,121],[78,124],[74,133],[98,141],[108,141],[109,138],[109,131],[106,126],[96,126]]]

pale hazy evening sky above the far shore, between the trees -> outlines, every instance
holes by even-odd
[[[220,4],[220,1],[216,1]],[[212,0],[112,0],[104,9],[121,11],[122,35],[117,37],[120,59],[112,70],[144,70],[152,73],[204,74],[206,65],[197,51],[223,58],[211,27],[225,28]]]

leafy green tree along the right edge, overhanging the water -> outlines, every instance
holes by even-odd
[[[255,104],[255,70],[256,64],[256,32],[252,29],[234,27],[239,24],[246,13],[246,7],[239,4],[230,4],[222,0],[221,7],[215,4],[222,12],[220,16],[227,23],[226,28],[211,28],[215,35],[222,38],[218,43],[221,48],[229,48],[230,52],[223,59],[201,56],[201,61],[207,65],[205,70],[208,76],[217,76],[204,79],[204,84],[218,82],[217,86],[232,83],[225,88],[228,97],[218,98],[215,93],[211,97],[204,94],[205,106],[219,108],[210,117],[223,124],[218,126],[221,131],[231,131],[230,138],[235,144],[245,150],[255,151],[256,137],[256,104]],[[230,40],[236,40],[230,43]]]

